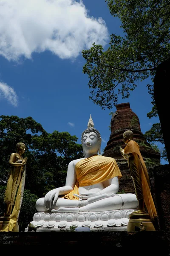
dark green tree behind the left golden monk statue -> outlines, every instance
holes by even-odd
[[[32,138],[45,132],[40,123],[32,117],[0,116],[0,180],[6,180],[9,172],[9,157],[16,151],[16,144],[23,142],[31,148]],[[27,150],[27,152],[28,152]]]

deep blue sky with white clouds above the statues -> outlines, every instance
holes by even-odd
[[[81,143],[91,114],[105,148],[109,113],[116,107],[102,110],[89,100],[81,54],[93,42],[107,49],[109,35],[122,35],[105,0],[3,0],[0,24],[0,115],[31,116],[47,132],[68,131]],[[147,118],[152,108],[149,82],[139,83],[129,99],[119,97],[118,102],[130,102],[142,133],[159,122]]]

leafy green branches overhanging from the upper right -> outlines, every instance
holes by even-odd
[[[111,109],[117,104],[119,95],[122,99],[128,98],[139,82],[150,78],[151,84],[147,87],[153,109],[148,116],[159,113],[160,117],[153,82],[159,65],[170,60],[170,1],[106,2],[111,15],[121,20],[124,36],[112,34],[106,51],[95,43],[91,49],[82,51],[86,60],[83,73],[88,75],[88,85],[92,89],[90,99],[102,109]],[[167,131],[162,120],[162,132]],[[166,137],[165,132],[163,134]],[[167,150],[168,145],[165,146]]]

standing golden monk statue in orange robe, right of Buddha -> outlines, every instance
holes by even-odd
[[[125,131],[123,134],[125,149],[120,148],[122,156],[127,159],[132,177],[136,198],[138,200],[139,210],[136,213],[144,212],[144,203],[150,218],[157,217],[155,204],[150,192],[150,181],[142,155],[139,151],[139,145],[133,140],[133,132]]]

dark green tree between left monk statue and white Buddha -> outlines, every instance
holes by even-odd
[[[49,190],[65,185],[69,162],[81,158],[83,154],[82,145],[77,144],[77,140],[76,136],[59,131],[33,138],[31,168],[26,178],[26,187],[32,193],[41,197]]]

